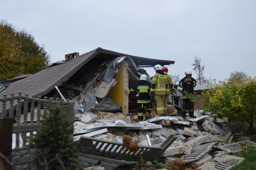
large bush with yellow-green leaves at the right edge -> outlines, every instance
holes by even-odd
[[[227,118],[230,128],[231,123],[239,124],[239,132],[245,134],[254,133],[255,130],[255,110],[256,110],[256,77],[237,81],[214,80],[214,88],[202,93],[203,107],[211,112],[211,116],[216,119]]]

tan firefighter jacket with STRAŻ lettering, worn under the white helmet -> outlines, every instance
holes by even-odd
[[[150,93],[164,95],[167,89],[167,80],[165,74],[156,73],[152,78]]]

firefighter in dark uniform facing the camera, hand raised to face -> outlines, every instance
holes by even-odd
[[[187,70],[185,73],[185,77],[180,80],[179,87],[182,88],[182,118],[186,119],[186,112],[189,111],[189,117],[196,118],[194,116],[194,103],[190,101],[187,97],[187,94],[194,94],[194,87],[197,85],[197,81],[191,77],[192,72]]]

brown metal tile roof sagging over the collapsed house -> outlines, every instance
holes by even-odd
[[[22,94],[29,94],[29,96],[35,95],[35,97],[44,96],[55,89],[55,86],[59,86],[62,82],[69,79],[92,58],[116,58],[118,56],[127,56],[132,58],[137,67],[153,67],[156,63],[161,65],[174,64],[174,61],[137,57],[109,51],[99,47],[71,60],[56,62],[38,73],[11,83],[5,91],[0,93],[0,97],[3,97],[3,94],[10,96],[11,93],[14,93],[16,95],[18,92],[22,92]],[[0,103],[0,108],[2,108],[2,103]]]

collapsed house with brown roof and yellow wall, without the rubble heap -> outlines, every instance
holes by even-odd
[[[143,68],[174,63],[97,48],[82,55],[66,55],[65,61],[53,63],[34,75],[11,83],[0,97],[21,92],[42,98],[68,98],[76,100],[83,113],[94,108],[96,111],[127,114],[129,109],[137,107],[136,95],[130,94],[130,88],[139,81],[138,77],[146,74],[151,82]]]

